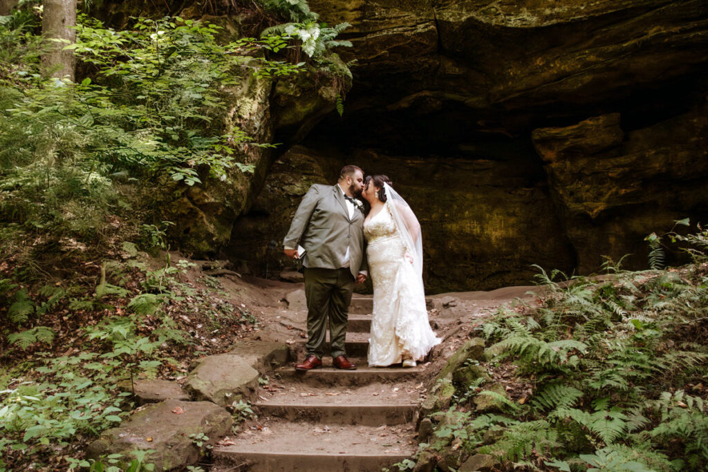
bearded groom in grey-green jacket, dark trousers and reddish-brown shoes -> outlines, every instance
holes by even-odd
[[[354,283],[367,277],[364,251],[364,214],[360,200],[364,172],[344,166],[336,185],[314,184],[302,197],[283,246],[285,255],[302,259],[307,297],[307,359],[297,370],[322,365],[324,338],[329,321],[330,354],[338,369],[356,369],[344,350],[347,318]]]

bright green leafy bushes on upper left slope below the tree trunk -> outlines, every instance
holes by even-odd
[[[137,18],[117,31],[81,16],[67,48],[91,76],[69,86],[41,79],[41,38],[25,16],[0,22],[0,42],[13,43],[0,53],[0,216],[53,236],[98,238],[107,213],[145,205],[125,184],[198,185],[228,180],[231,169],[253,172],[237,156],[247,143],[270,144],[227,127],[222,88],[302,65],[244,55],[273,49],[279,37],[222,45],[219,27],[206,22]]]

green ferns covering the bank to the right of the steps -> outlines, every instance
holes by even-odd
[[[708,247],[702,230],[671,236],[690,242],[696,260]],[[457,405],[432,417],[428,447],[457,441],[496,456],[503,469],[707,468],[706,402],[684,386],[702,391],[708,375],[708,277],[698,266],[628,272],[621,262],[607,260],[600,282],[540,270],[540,304],[518,302],[486,321],[491,362],[513,364],[530,398],[484,391],[479,380],[458,386]],[[503,413],[471,415],[479,395]]]

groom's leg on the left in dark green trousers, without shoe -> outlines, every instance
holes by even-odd
[[[307,355],[322,358],[330,298],[336,285],[337,270],[305,268],[305,297],[307,298]]]

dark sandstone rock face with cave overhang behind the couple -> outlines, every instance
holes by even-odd
[[[241,34],[248,22],[228,3],[165,5]],[[131,5],[159,13],[107,4],[114,20]],[[646,234],[708,221],[704,0],[309,6],[352,25],[340,36],[353,42],[343,60],[358,61],[343,117],[326,114],[337,84],[314,69],[251,88],[253,100],[233,93],[232,123],[284,145],[249,151],[252,176],[183,194],[173,236],[184,248],[224,249],[255,275],[290,267],[279,243],[295,207],[345,163],[389,175],[411,203],[430,292],[527,284],[534,263],[593,272],[601,255],[646,267]]]

